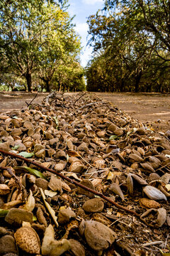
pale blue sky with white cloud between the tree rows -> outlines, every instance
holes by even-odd
[[[87,18],[91,14],[96,14],[98,9],[103,8],[103,0],[69,0],[69,14],[75,16],[73,23],[76,24],[75,30],[81,36],[81,46],[83,46],[81,53],[81,65],[86,66],[86,63],[91,58],[92,48],[86,46],[88,41],[88,24],[86,23]]]

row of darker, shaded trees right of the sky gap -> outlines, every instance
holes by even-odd
[[[170,1],[107,0],[89,17],[90,91],[170,91]]]

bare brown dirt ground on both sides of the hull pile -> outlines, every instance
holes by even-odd
[[[35,97],[35,92],[0,92],[0,112],[18,110],[26,107]],[[152,127],[166,132],[170,129],[170,95],[159,93],[93,93],[111,102],[123,112],[140,122],[152,123]],[[33,103],[40,103],[47,93],[38,93]]]

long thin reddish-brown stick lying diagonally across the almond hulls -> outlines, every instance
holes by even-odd
[[[140,217],[140,214],[136,213],[134,210],[130,210],[130,209],[124,207],[124,206],[120,206],[118,203],[115,203],[113,200],[111,200],[111,199],[108,198],[107,196],[104,196],[103,193],[99,193],[99,192],[97,192],[97,191],[94,191],[93,189],[88,188],[88,187],[82,185],[81,183],[79,183],[79,182],[77,182],[77,181],[74,181],[74,180],[72,180],[71,178],[68,178],[67,176],[64,176],[64,175],[60,174],[58,171],[49,169],[49,168],[47,168],[47,167],[45,167],[45,166],[42,166],[41,164],[36,163],[36,162],[33,161],[33,160],[26,159],[26,158],[23,157],[23,156],[19,156],[18,154],[14,154],[14,153],[11,153],[11,152],[7,152],[7,151],[4,151],[4,150],[2,150],[2,149],[0,149],[0,152],[1,152],[2,154],[6,154],[6,155],[8,155],[8,156],[14,156],[14,157],[16,157],[16,158],[18,158],[18,159],[21,159],[21,160],[23,160],[23,161],[26,161],[26,162],[28,162],[28,163],[30,163],[30,164],[34,164],[35,166],[38,166],[40,169],[44,169],[45,171],[50,171],[51,173],[56,174],[57,176],[60,176],[61,178],[65,179],[66,181],[69,181],[70,183],[73,183],[73,184],[79,186],[80,188],[83,188],[84,190],[93,193],[94,195],[100,196],[101,198],[105,199],[105,200],[108,201],[109,203],[112,203],[115,207],[117,207],[117,208],[119,208],[119,209],[121,209],[121,210],[125,210],[126,212],[131,213],[132,215],[135,215],[135,216],[137,216],[137,217]]]

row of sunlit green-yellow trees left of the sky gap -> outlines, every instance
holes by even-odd
[[[67,0],[1,0],[1,85],[84,90],[80,50]]]

